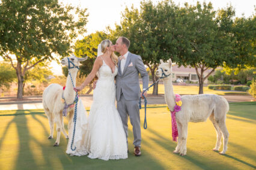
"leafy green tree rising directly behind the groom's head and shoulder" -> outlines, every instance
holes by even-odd
[[[169,1],[159,2],[154,5],[151,1],[142,1],[141,10],[132,7],[122,14],[121,25],[116,25],[110,30],[112,40],[120,36],[129,38],[129,51],[139,54],[145,65],[150,69],[152,80],[157,81],[154,72],[159,60],[167,60],[170,52],[177,46],[174,41],[167,41],[172,36],[173,30],[169,29],[168,22],[173,23],[176,18],[177,7]],[[172,43],[175,45],[172,46]],[[153,95],[158,94],[158,84],[153,87]]]

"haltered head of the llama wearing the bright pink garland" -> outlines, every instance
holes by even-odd
[[[171,59],[168,60],[168,62],[163,62],[162,59],[160,59],[160,64],[158,66],[158,69],[156,71],[156,77],[168,77],[168,75],[171,75],[172,72],[172,61]]]

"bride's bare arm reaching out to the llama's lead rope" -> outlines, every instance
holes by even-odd
[[[101,65],[102,59],[100,59],[100,57],[97,57],[93,64],[93,69],[91,70],[87,78],[85,78],[85,81],[80,86],[75,87],[75,89],[78,90],[78,92],[84,89],[84,87],[87,86],[87,84],[93,80],[93,78],[96,76],[97,71],[99,71]]]

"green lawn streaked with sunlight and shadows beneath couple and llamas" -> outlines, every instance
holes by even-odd
[[[0,111],[0,169],[254,169],[256,168],[256,102],[231,103],[227,115],[230,132],[227,154],[214,151],[216,133],[212,123],[189,123],[187,155],[172,151],[171,117],[165,105],[149,105],[148,129],[142,128],[142,155],[132,154],[129,125],[129,158],[89,159],[66,154],[67,139],[47,139],[49,124],[42,110]],[[143,126],[144,109],[141,110]],[[65,120],[67,128],[67,120]],[[221,147],[222,149],[222,147]]]

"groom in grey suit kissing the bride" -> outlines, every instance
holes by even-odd
[[[115,77],[117,87],[117,110],[123,122],[126,132],[126,141],[128,136],[128,117],[133,127],[133,145],[135,145],[135,156],[141,155],[141,123],[139,117],[139,97],[142,92],[139,87],[139,74],[143,82],[143,90],[148,87],[148,73],[145,69],[141,56],[132,54],[128,51],[130,41],[126,37],[119,37],[115,44],[115,51],[120,53],[118,59],[118,74]],[[147,92],[144,92],[147,96]],[[127,141],[128,145],[128,141]]]

